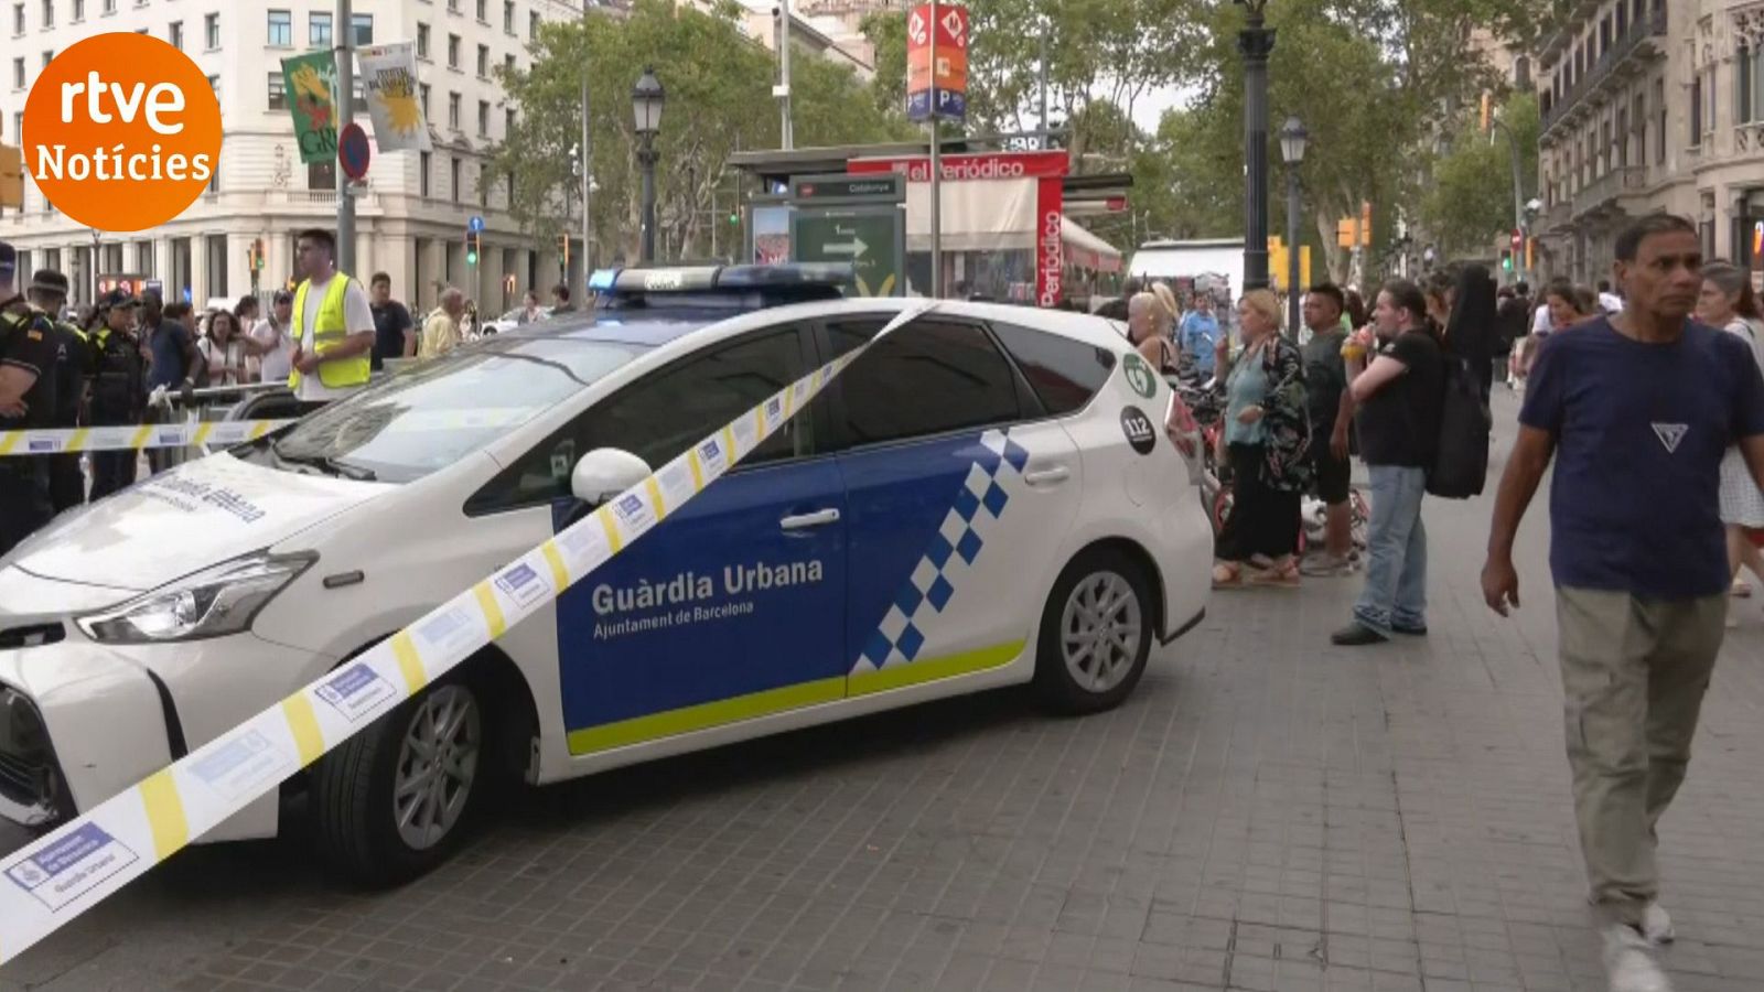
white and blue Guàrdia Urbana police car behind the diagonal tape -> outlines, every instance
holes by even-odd
[[[132,785],[924,305],[781,275],[797,282],[603,277],[617,309],[420,364],[21,545],[0,563],[0,815],[48,824]],[[811,302],[771,305],[789,298]],[[1102,319],[935,305],[321,757],[300,784],[326,853],[409,877],[496,775],[556,782],[1009,683],[1115,706],[1208,593],[1168,404]],[[206,838],[277,817],[272,794]]]

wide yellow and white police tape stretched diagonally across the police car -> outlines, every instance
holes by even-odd
[[[864,346],[767,397],[390,639],[0,858],[0,964],[171,858],[533,616],[721,478],[859,355],[931,305],[903,311]]]

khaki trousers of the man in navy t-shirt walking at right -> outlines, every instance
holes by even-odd
[[[1685,782],[1727,597],[1651,600],[1556,590],[1573,815],[1591,900],[1641,925],[1660,891],[1655,826]]]

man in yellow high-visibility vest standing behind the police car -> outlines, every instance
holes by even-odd
[[[362,282],[337,272],[337,238],[300,231],[295,289],[295,371],[288,388],[307,402],[342,399],[367,385],[374,349],[374,311]]]

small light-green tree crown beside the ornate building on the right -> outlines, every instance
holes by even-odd
[[[1515,94],[1499,109],[1519,145],[1521,199],[1536,191],[1538,102]],[[1484,134],[1466,120],[1452,150],[1432,169],[1422,219],[1443,254],[1482,256],[1514,226],[1514,152],[1506,134]]]

